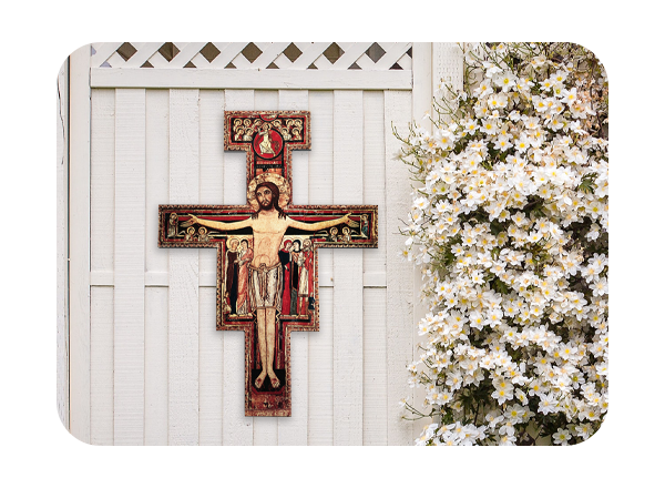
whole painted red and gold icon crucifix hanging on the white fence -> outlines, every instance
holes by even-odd
[[[307,111],[225,111],[245,151],[245,205],[160,205],[160,247],[217,250],[217,331],[245,333],[245,415],[290,416],[290,333],[319,327],[320,247],[377,247],[377,205],[293,205]]]

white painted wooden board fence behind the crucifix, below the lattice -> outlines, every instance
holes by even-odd
[[[430,43],[415,44],[421,77],[431,68],[417,53]],[[91,116],[70,144],[72,170],[86,146],[90,161],[70,201],[82,205],[70,211],[70,247],[84,253],[70,288],[71,444],[411,445],[417,426],[400,419],[399,400],[413,394],[415,273],[397,233],[411,189],[391,125],[406,133],[421,118],[420,91],[265,90],[255,79],[93,88],[85,105],[85,49],[90,62],[90,43],[72,43],[76,111]],[[290,418],[244,416],[243,334],[215,331],[215,251],[157,247],[160,203],[245,203],[245,155],[222,142],[224,110],[239,109],[311,112],[311,150],[294,152],[294,203],[379,205],[377,250],[319,251],[320,331],[293,334]]]

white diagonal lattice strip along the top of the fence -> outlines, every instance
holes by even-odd
[[[411,70],[411,42],[93,42],[92,68]]]

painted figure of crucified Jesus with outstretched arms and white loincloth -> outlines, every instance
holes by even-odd
[[[250,217],[239,222],[216,222],[198,218],[192,214],[183,226],[193,224],[205,225],[217,231],[235,231],[250,227],[254,233],[254,257],[248,266],[249,306],[256,314],[258,327],[258,349],[260,354],[262,372],[254,382],[260,388],[266,376],[270,379],[273,388],[279,387],[279,379],[275,375],[273,363],[275,359],[275,332],[277,312],[282,312],[282,296],[284,277],[279,261],[279,246],[288,227],[301,231],[316,232],[338,224],[357,225],[351,221],[350,213],[340,218],[330,221],[304,223],[294,221],[279,207],[279,189],[269,181],[256,186],[255,197],[259,210]]]

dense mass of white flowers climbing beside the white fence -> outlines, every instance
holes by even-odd
[[[409,369],[436,421],[417,444],[606,444],[608,45],[461,49],[433,130],[396,133],[429,305]]]

